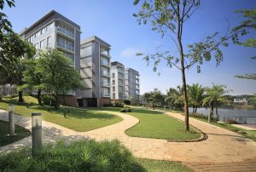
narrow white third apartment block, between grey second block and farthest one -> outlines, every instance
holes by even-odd
[[[124,103],[125,66],[118,61],[111,62],[111,100],[113,103]]]

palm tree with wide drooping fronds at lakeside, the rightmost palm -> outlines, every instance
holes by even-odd
[[[217,120],[219,119],[218,106],[224,102],[229,103],[229,100],[223,97],[223,95],[228,92],[225,89],[226,89],[226,86],[224,85],[217,85],[212,83],[212,88],[206,89],[207,97],[204,98],[202,102],[202,106],[206,106],[206,105],[210,106],[212,112],[213,112],[213,108],[215,107]]]

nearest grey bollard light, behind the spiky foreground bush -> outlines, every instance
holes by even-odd
[[[42,149],[42,115],[40,112],[32,113],[32,154]]]

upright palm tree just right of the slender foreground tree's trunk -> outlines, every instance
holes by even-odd
[[[194,83],[192,86],[188,85],[188,93],[189,93],[189,102],[193,107],[193,113],[196,113],[197,107],[201,106],[204,89],[198,83]]]

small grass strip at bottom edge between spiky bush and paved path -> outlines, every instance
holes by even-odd
[[[182,163],[171,162],[171,161],[158,161],[151,159],[137,158],[137,162],[140,163],[144,169],[148,172],[172,172],[172,171],[192,171]]]

